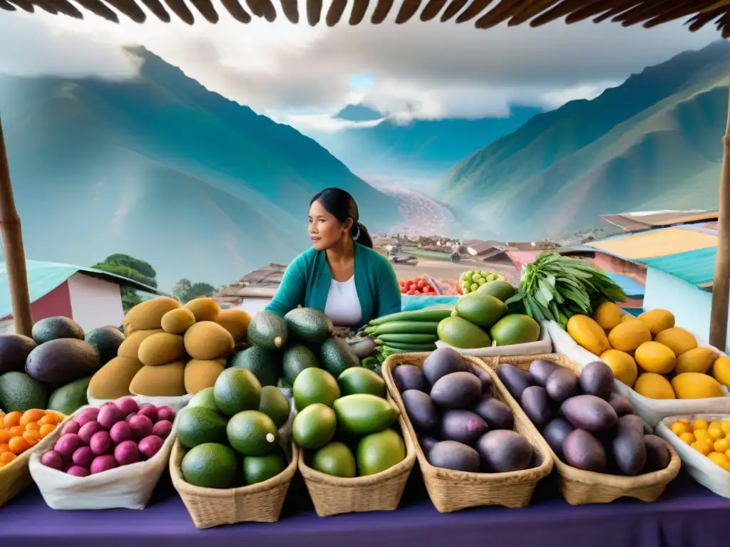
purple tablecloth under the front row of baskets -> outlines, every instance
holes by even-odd
[[[684,473],[656,503],[619,500],[567,505],[553,477],[522,509],[474,508],[441,514],[426,496],[418,468],[398,511],[320,519],[301,478],[275,524],[198,530],[169,477],[145,511],[53,511],[31,486],[0,508],[0,545],[12,547],[728,547],[730,500]]]

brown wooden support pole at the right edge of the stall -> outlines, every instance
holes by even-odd
[[[715,281],[712,283],[710,344],[725,351],[727,346],[728,306],[730,304],[730,82],[728,86],[728,117],[725,136],[723,136],[723,166],[720,174],[720,208],[718,215],[718,254],[715,258]]]

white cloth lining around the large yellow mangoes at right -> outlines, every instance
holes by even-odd
[[[587,349],[579,346],[572,336],[566,333],[560,325],[551,321],[548,325],[550,338],[553,340],[553,348],[556,353],[564,354],[575,362],[580,368],[588,365],[589,362],[599,361],[597,355],[588,352]],[[694,333],[693,333],[694,334]],[[695,335],[695,338],[696,335]],[[697,345],[712,347],[701,339],[697,338]],[[719,349],[718,354],[724,355]],[[650,399],[639,395],[623,382],[613,381],[614,391],[629,399],[634,406],[636,413],[649,424],[656,427],[658,422],[666,416],[688,415],[688,414],[730,414],[730,397],[712,397],[710,399]],[[730,392],[723,386],[723,392],[728,395]]]

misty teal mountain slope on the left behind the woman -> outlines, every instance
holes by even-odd
[[[219,286],[310,245],[312,195],[355,196],[371,230],[399,203],[314,140],[212,93],[152,53],[135,79],[0,75],[0,112],[29,259],[122,252]]]

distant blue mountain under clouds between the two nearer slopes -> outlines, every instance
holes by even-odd
[[[370,106],[352,104],[335,119],[366,122],[336,132],[305,131],[358,175],[434,179],[491,141],[512,133],[534,115],[532,106],[512,106],[504,117],[474,120],[395,120]],[[372,123],[380,120],[375,125]]]

